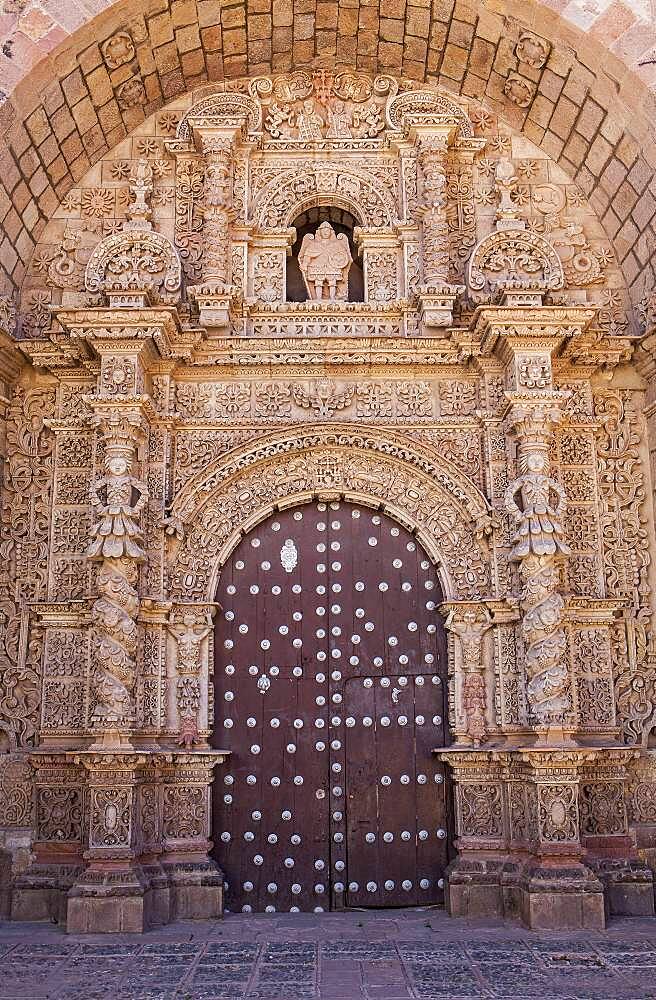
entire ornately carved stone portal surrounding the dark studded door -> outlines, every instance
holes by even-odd
[[[340,497],[440,575],[451,912],[653,913],[653,317],[582,192],[473,102],[328,70],[186,95],[101,167],[0,309],[13,917],[221,913],[221,566]]]

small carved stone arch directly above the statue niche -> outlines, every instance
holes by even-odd
[[[366,170],[317,161],[308,169],[290,166],[276,173],[258,193],[251,216],[259,226],[288,227],[316,205],[345,208],[365,228],[393,226],[397,215],[392,198]]]

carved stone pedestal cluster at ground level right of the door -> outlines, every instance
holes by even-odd
[[[607,914],[653,913],[624,809],[620,747],[454,747],[458,857],[452,916],[521,920],[532,929],[603,929]],[[632,860],[633,859],[633,860]]]

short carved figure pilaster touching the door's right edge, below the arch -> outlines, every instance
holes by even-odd
[[[443,605],[443,611],[448,611],[444,627],[457,636],[460,646],[453,679],[455,742],[479,747],[487,735],[483,636],[492,627],[492,619],[481,605]]]

